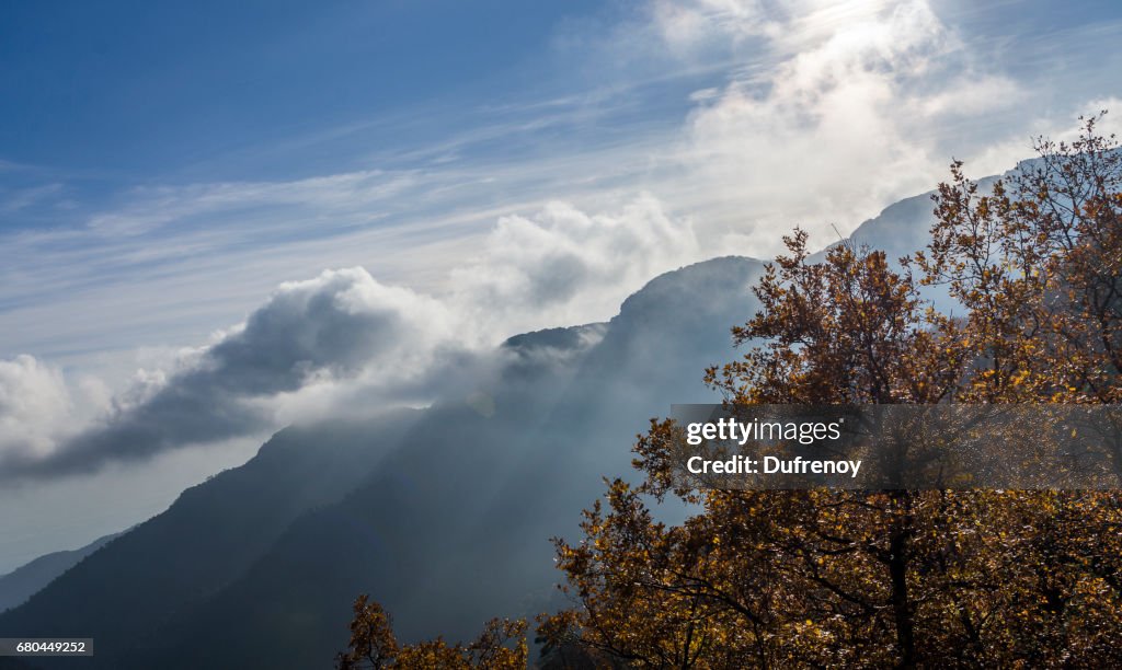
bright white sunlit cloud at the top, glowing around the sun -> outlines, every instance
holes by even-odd
[[[853,230],[931,188],[949,160],[940,128],[1022,101],[918,0],[801,2],[785,16],[697,0],[656,18],[668,39],[751,37],[766,64],[699,100],[683,151],[702,206],[744,212],[737,229],[710,232],[758,254],[778,250],[775,230],[800,224],[826,243],[830,223]]]

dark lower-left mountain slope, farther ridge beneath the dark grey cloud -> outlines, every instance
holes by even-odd
[[[411,420],[412,412],[396,412],[364,426],[278,432],[245,466],[184,491],[166,512],[0,615],[0,635],[94,638],[92,660],[36,663],[118,667],[129,650],[158,642],[151,635],[163,622],[234,580],[294,519],[353,487]]]

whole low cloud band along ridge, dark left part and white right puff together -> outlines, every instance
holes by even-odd
[[[210,344],[139,371],[103,416],[67,436],[35,432],[66,424],[70,399],[57,370],[21,356],[0,367],[0,398],[34,402],[0,406],[13,417],[0,424],[0,478],[94,472],[292,421],[468,393],[502,364],[502,339],[606,319],[651,277],[695,260],[690,222],[651,196],[609,214],[552,203],[500,218],[440,296],[362,268],[282,283]]]

